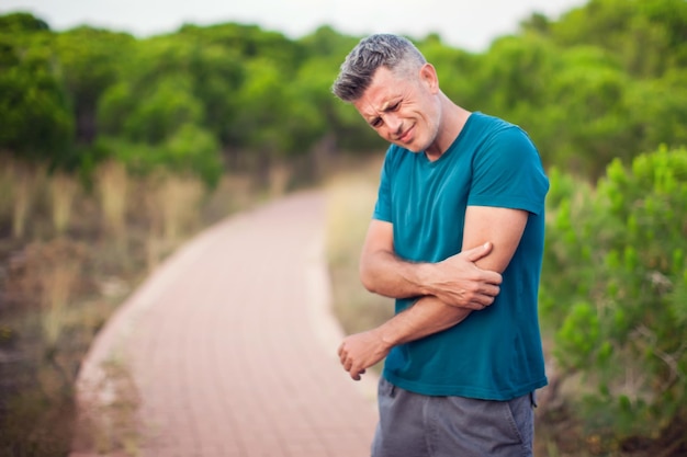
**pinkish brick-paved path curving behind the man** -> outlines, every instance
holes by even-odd
[[[143,457],[369,455],[375,380],[354,382],[338,365],[324,212],[320,193],[300,193],[183,247],[97,339],[82,404],[111,401],[101,368],[114,359],[140,399]]]

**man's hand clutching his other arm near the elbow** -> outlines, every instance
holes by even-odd
[[[472,310],[492,305],[500,292],[502,275],[475,265],[492,249],[493,244],[487,242],[431,264],[431,274],[426,279],[429,295],[447,305]]]

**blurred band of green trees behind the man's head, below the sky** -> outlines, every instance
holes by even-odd
[[[686,5],[590,0],[558,21],[534,14],[483,54],[433,33],[416,43],[448,96],[521,125],[547,167],[593,182],[616,158],[687,142]],[[376,152],[384,141],[329,91],[358,41],[236,23],[135,39],[0,16],[0,150],[88,173],[103,138],[157,148],[193,124],[226,165],[254,172],[323,148]]]

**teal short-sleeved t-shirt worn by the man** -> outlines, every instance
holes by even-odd
[[[494,304],[460,324],[395,346],[384,377],[429,396],[509,400],[547,385],[538,318],[549,180],[539,152],[518,126],[470,115],[436,161],[392,145],[373,217],[393,224],[396,254],[439,262],[461,252],[465,208],[523,209],[529,218],[503,273]],[[416,298],[396,300],[396,312]]]

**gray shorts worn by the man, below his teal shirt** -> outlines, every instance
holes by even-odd
[[[534,393],[509,401],[428,397],[380,379],[372,457],[531,457]]]

